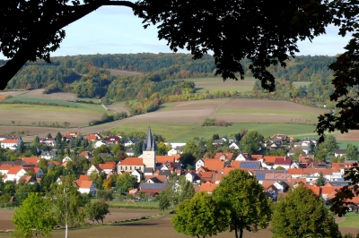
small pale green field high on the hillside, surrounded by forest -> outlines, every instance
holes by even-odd
[[[233,81],[231,79],[223,81],[221,77],[216,78],[199,78],[199,79],[186,79],[186,81],[194,81],[196,89],[199,92],[213,92],[215,90],[229,91],[237,90],[239,92],[248,92],[253,89],[254,78],[248,77],[244,81]]]

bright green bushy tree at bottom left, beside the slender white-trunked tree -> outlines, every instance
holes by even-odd
[[[22,237],[32,237],[33,234],[48,237],[56,225],[54,216],[49,200],[41,198],[38,193],[29,193],[20,208],[14,211],[13,224]]]

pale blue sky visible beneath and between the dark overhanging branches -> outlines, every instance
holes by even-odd
[[[156,27],[144,30],[141,20],[123,6],[102,6],[65,30],[66,38],[51,56],[171,53],[167,42],[157,38]],[[329,26],[327,34],[314,38],[312,43],[299,42],[301,52],[297,55],[337,55],[345,51],[348,39],[338,36],[337,29]],[[0,58],[5,59],[1,54]]]

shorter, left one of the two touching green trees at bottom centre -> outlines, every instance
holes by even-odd
[[[201,191],[179,204],[171,223],[178,233],[205,238],[227,230],[230,219],[227,208],[221,208],[212,195]]]

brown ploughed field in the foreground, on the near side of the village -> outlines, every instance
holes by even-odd
[[[158,210],[142,210],[142,209],[110,209],[110,215],[105,218],[105,222],[124,220],[130,218],[145,217],[158,214]],[[13,229],[11,219],[13,210],[2,209],[0,213],[0,229]],[[344,227],[340,224],[345,224],[346,218],[343,222],[339,223],[339,229],[342,234],[351,233],[356,234],[358,228]],[[54,238],[64,237],[65,230],[57,230],[52,234]],[[156,238],[183,238],[189,237],[175,232],[171,225],[171,216],[154,218],[135,223],[127,224],[113,224],[113,225],[90,225],[83,228],[70,228],[68,235],[70,237],[121,237],[121,238],[134,238],[134,237],[156,237]],[[224,232],[217,234],[219,238],[232,238],[233,233]],[[259,238],[271,237],[272,233],[268,230],[259,230],[258,233],[244,232],[243,237]],[[10,237],[10,234],[0,234],[0,237]],[[40,236],[41,237],[41,236]]]

